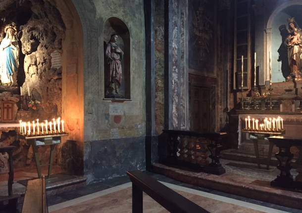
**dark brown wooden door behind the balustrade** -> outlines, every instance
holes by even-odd
[[[193,86],[192,92],[192,130],[208,132],[209,121],[209,88]],[[215,98],[215,97],[213,97]]]

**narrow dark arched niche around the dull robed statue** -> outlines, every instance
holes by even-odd
[[[130,33],[127,25],[117,17],[108,18],[103,25],[103,38],[104,38],[104,96],[105,98],[112,99],[130,99]],[[119,93],[116,94],[108,89],[110,84],[110,64],[106,56],[107,44],[111,39],[111,35],[118,35],[116,44],[122,49],[124,55],[121,59],[122,66],[122,81]]]

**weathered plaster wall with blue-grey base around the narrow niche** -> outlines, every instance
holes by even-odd
[[[144,1],[72,0],[84,33],[84,173],[88,183],[145,169]],[[131,101],[104,100],[103,25],[121,19],[130,32]]]

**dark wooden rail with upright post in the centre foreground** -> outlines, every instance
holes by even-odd
[[[142,171],[127,175],[132,181],[132,213],[143,212],[143,191],[171,213],[209,213]]]

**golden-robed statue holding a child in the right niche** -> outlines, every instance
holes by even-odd
[[[288,50],[288,64],[290,67],[290,75],[287,81],[302,80],[302,30],[298,27],[295,18],[288,19],[288,36],[285,39],[285,45]]]

